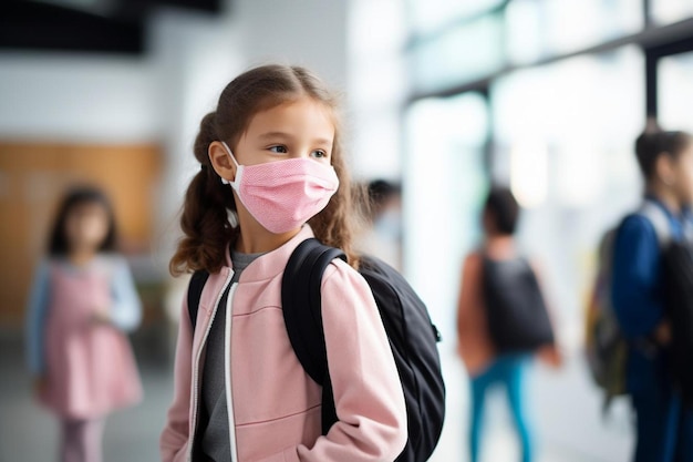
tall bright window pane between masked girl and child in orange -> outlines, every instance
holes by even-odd
[[[459,287],[459,264],[477,242],[486,194],[487,113],[477,93],[421,100],[406,113],[404,268],[448,339],[455,338],[449,307]]]

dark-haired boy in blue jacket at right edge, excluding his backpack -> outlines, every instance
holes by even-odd
[[[666,216],[671,236],[684,237],[693,202],[693,138],[656,127],[635,142],[645,204]],[[640,213],[621,224],[613,244],[612,301],[629,340],[627,389],[637,414],[635,462],[693,462],[693,412],[681,407],[668,371],[670,325],[664,317],[661,248],[653,223]]]

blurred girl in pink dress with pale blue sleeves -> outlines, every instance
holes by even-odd
[[[115,238],[106,196],[70,192],[30,297],[29,367],[40,401],[61,421],[63,462],[101,461],[105,417],[142,398],[124,333],[139,324],[141,306]]]

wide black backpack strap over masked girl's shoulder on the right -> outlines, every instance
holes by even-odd
[[[334,258],[346,260],[342,250],[313,238],[306,239],[291,254],[281,281],[281,305],[291,347],[306,373],[322,386],[323,434],[338,420],[328,369],[320,295],[322,275]]]

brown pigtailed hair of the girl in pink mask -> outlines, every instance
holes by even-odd
[[[236,213],[231,187],[221,183],[209,162],[208,148],[211,142],[225,141],[232,151],[257,113],[306,96],[332,110],[332,166],[340,181],[340,187],[328,206],[309,224],[318,239],[343,249],[351,265],[358,265],[352,246],[354,197],[341,144],[337,97],[310,71],[275,64],[251,69],[234,79],[221,92],[216,111],[203,117],[194,146],[195,158],[201,168],[185,195],[180,217],[185,236],[170,259],[172,275],[179,276],[198,269],[217,273],[225,265],[227,245],[240,232],[228,217],[227,211]]]

